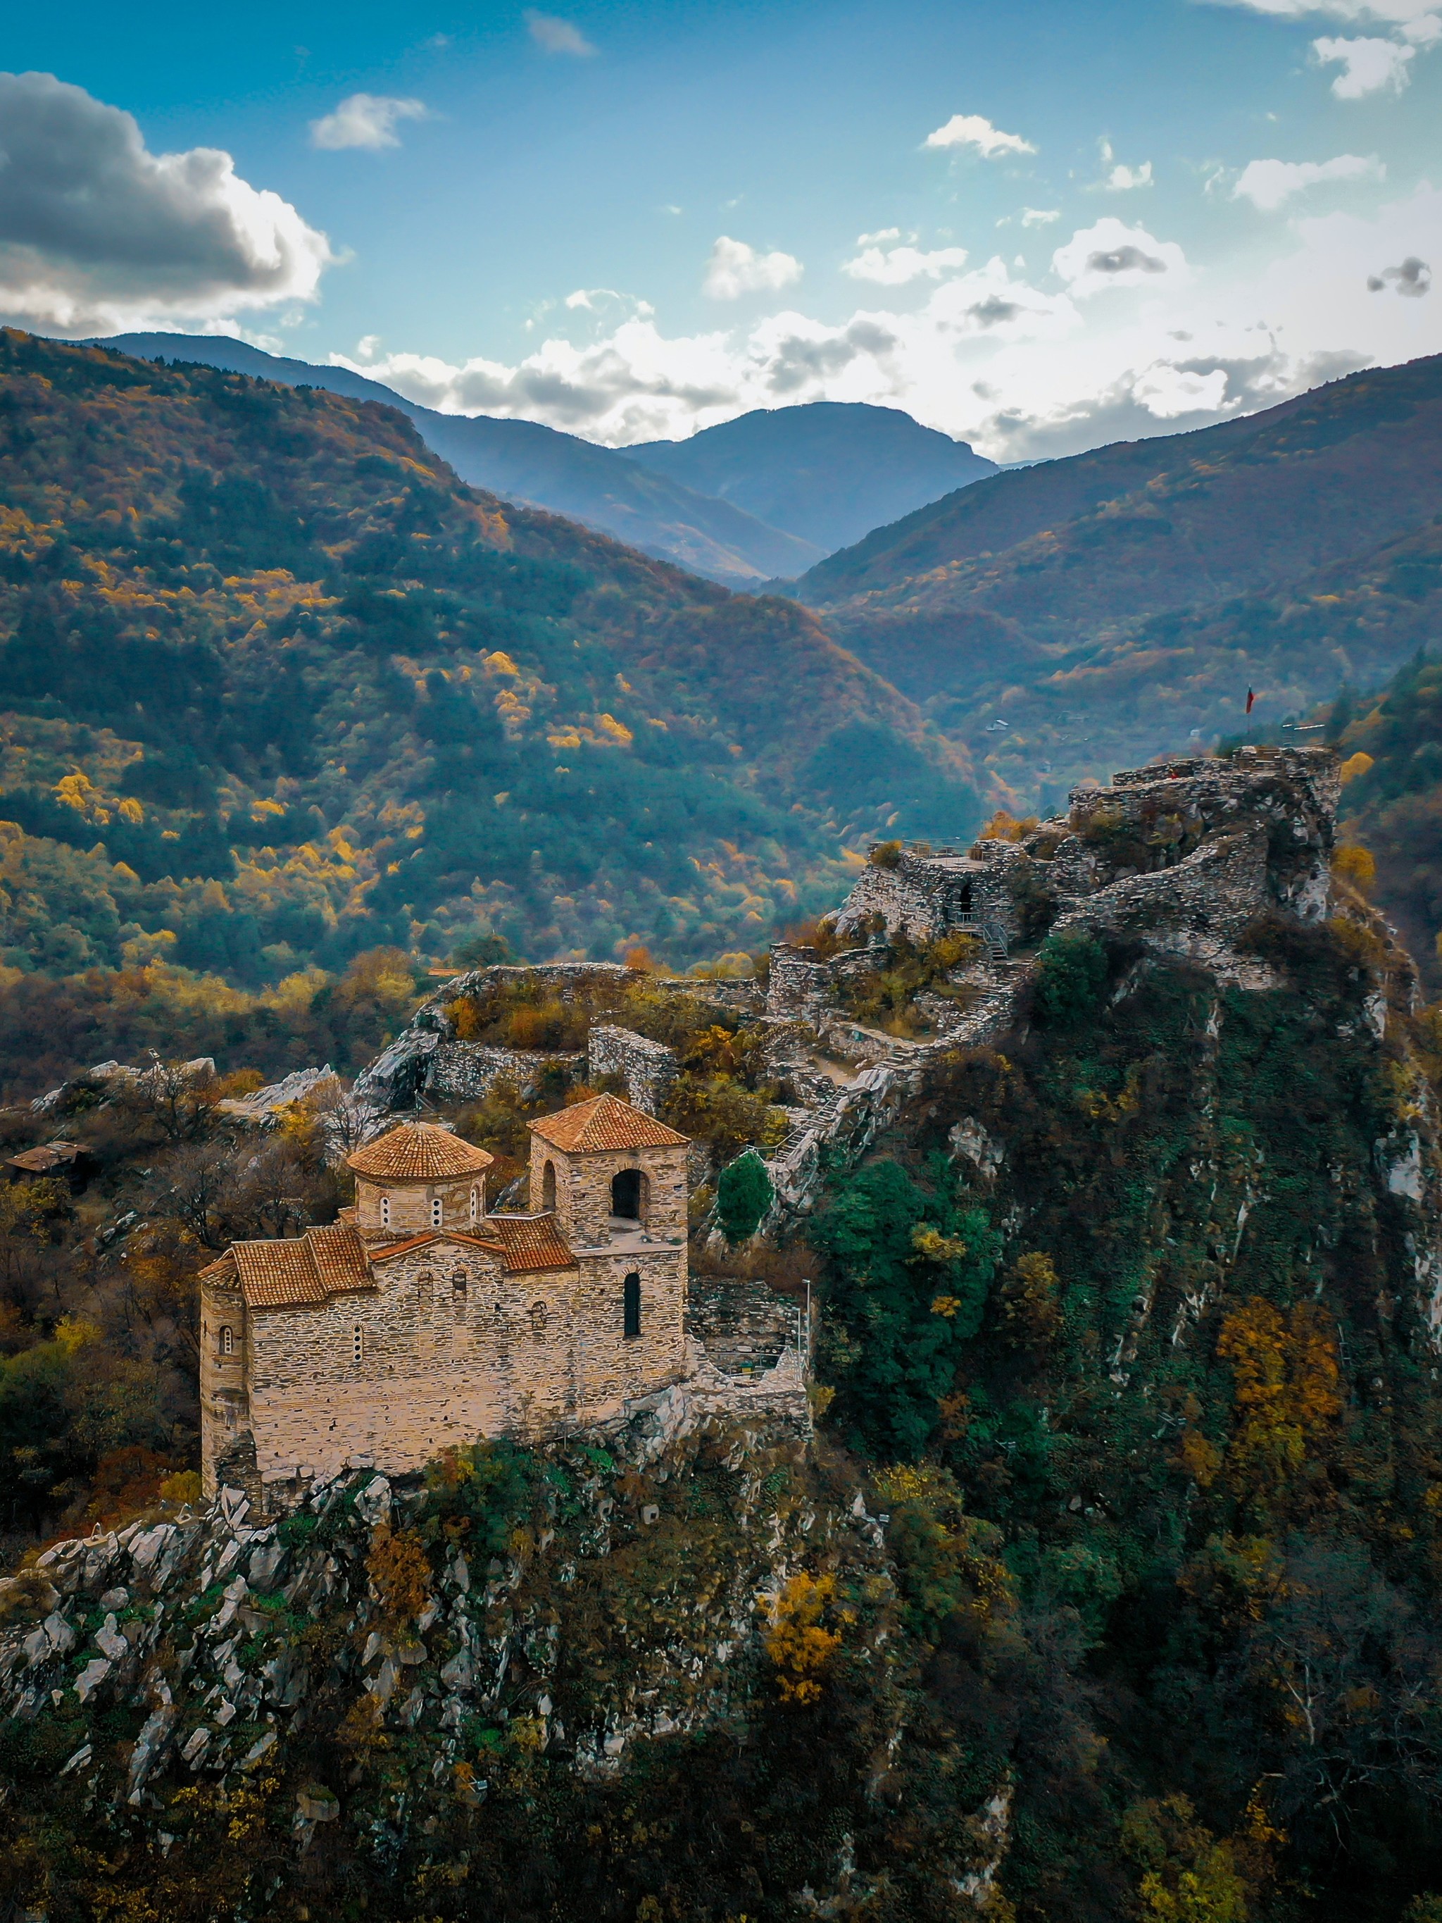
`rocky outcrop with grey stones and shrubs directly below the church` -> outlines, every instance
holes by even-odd
[[[988,1619],[1004,1571],[913,1481],[886,1523]],[[786,1425],[358,1465],[265,1527],[225,1492],[58,1544],[0,1610],[12,1915],[902,1917],[1000,1854],[1000,1775],[909,1802],[913,1602]]]

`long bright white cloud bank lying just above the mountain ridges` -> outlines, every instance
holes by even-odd
[[[988,260],[927,285],[907,312],[877,292],[836,323],[786,310],[684,337],[633,313],[579,344],[544,338],[515,363],[390,354],[363,371],[446,412],[548,421],[613,446],[684,438],[752,408],[863,400],[996,460],[1038,460],[1204,427],[1355,367],[1442,352],[1442,300],[1427,294],[1429,263],[1442,262],[1430,187],[1365,215],[1300,217],[1273,231],[1271,262],[1248,240],[1194,275],[1142,229],[1098,229],[1073,237],[1067,265],[1082,271],[1057,288]],[[1077,298],[1096,275],[1088,258],[1123,246],[1165,271],[1123,269],[1142,298]],[[563,310],[546,325],[558,321],[598,325]]]

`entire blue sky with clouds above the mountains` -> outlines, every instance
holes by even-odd
[[[1442,352],[1438,0],[73,0],[2,58],[38,333],[615,446],[863,400],[994,460]]]

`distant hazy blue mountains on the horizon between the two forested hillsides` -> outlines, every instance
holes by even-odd
[[[113,335],[96,344],[379,400],[408,415],[471,487],[733,588],[800,575],[867,529],[994,471],[896,408],[815,402],[748,413],[684,442],[602,448],[538,421],[438,413],[350,367],[285,360],[223,335]]]

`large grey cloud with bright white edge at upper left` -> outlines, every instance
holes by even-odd
[[[129,113],[0,73],[0,315],[58,333],[196,325],[310,300],[323,233],[229,154],[152,154]]]

